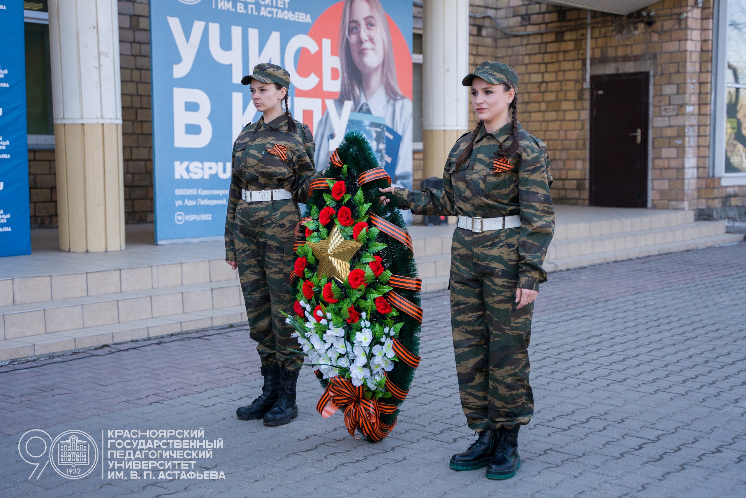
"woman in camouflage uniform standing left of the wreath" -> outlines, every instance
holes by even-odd
[[[295,384],[303,356],[285,349],[295,349],[297,343],[280,311],[292,310],[295,300],[289,281],[295,225],[300,220],[298,202],[307,202],[316,175],[314,144],[307,125],[288,111],[290,75],[285,69],[258,64],[241,82],[251,84],[251,101],[263,116],[246,125],[233,143],[225,260],[233,270],[238,268],[264,387],[236,416],[280,426],[298,417]]]

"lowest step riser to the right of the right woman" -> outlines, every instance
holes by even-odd
[[[545,261],[544,269],[548,272],[569,270],[570,268],[587,267],[591,264],[623,261],[625,259],[643,258],[645,256],[665,254],[667,252],[689,251],[703,249],[710,246],[739,243],[744,240],[743,234],[715,234],[674,242],[656,243],[648,246],[638,246],[631,249],[616,249],[612,251],[593,252],[568,258],[556,258]]]

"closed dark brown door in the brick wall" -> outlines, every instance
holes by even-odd
[[[647,72],[591,78],[590,203],[648,206]]]

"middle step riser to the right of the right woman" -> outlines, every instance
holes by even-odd
[[[549,246],[546,259],[554,261],[601,252],[637,249],[662,243],[700,239],[724,233],[724,221],[698,221],[642,230],[618,231],[587,237],[553,239]]]

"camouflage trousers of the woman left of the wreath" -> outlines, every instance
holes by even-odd
[[[280,311],[292,315],[295,293],[290,273],[295,263],[295,225],[300,219],[292,199],[266,202],[239,201],[233,225],[236,263],[241,281],[249,337],[257,341],[263,367],[298,370],[303,355],[290,337],[291,326]]]

